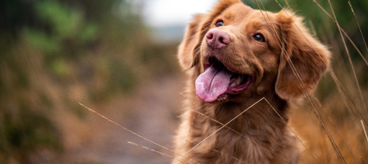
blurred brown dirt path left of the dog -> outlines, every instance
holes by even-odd
[[[178,125],[182,88],[180,77],[165,77],[140,86],[132,97],[117,97],[105,104],[89,106],[131,131],[172,149],[172,138]],[[92,112],[86,114],[81,127],[71,128],[76,137],[66,139],[66,163],[163,164],[170,157],[129,144],[147,146],[165,154],[170,151],[156,146]],[[81,128],[81,129],[75,129]],[[78,131],[78,132],[77,132]],[[78,160],[72,160],[78,159]]]

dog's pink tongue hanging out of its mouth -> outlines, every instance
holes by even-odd
[[[215,101],[217,97],[226,92],[231,75],[233,73],[223,65],[213,63],[195,80],[195,92],[199,99],[205,102]]]

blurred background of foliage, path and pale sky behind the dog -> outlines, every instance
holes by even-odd
[[[172,149],[185,82],[177,63],[177,46],[191,15],[205,13],[215,2],[2,1],[0,164],[170,163],[170,157],[128,141],[172,155],[170,151],[78,102]],[[245,3],[258,8],[255,1]],[[274,0],[262,3],[268,11],[281,10]],[[318,3],[332,13],[328,1]],[[345,160],[368,163],[368,143],[359,114],[368,120],[368,64],[364,61],[368,49],[348,1],[333,1],[332,6],[340,26],[363,56],[346,39],[357,80],[336,24],[316,3],[280,0],[280,4],[304,16],[311,33],[330,46],[331,69],[344,88],[327,72],[315,93],[321,103],[318,110]],[[368,39],[368,1],[354,0],[351,5]],[[320,163],[340,163],[309,105],[296,108],[290,122],[308,149]],[[301,162],[315,163],[304,149]]]

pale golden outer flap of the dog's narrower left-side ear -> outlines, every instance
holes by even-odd
[[[194,20],[190,22],[185,30],[184,39],[179,45],[178,58],[179,63],[183,69],[189,69],[195,65],[194,50],[197,49],[201,25],[205,19],[205,14],[194,15]]]

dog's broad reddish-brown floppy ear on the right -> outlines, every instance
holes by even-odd
[[[302,18],[291,11],[286,12],[290,17],[285,11],[276,15],[282,28],[284,50],[280,56],[275,91],[282,99],[293,100],[315,90],[329,64],[330,51],[309,34]]]

